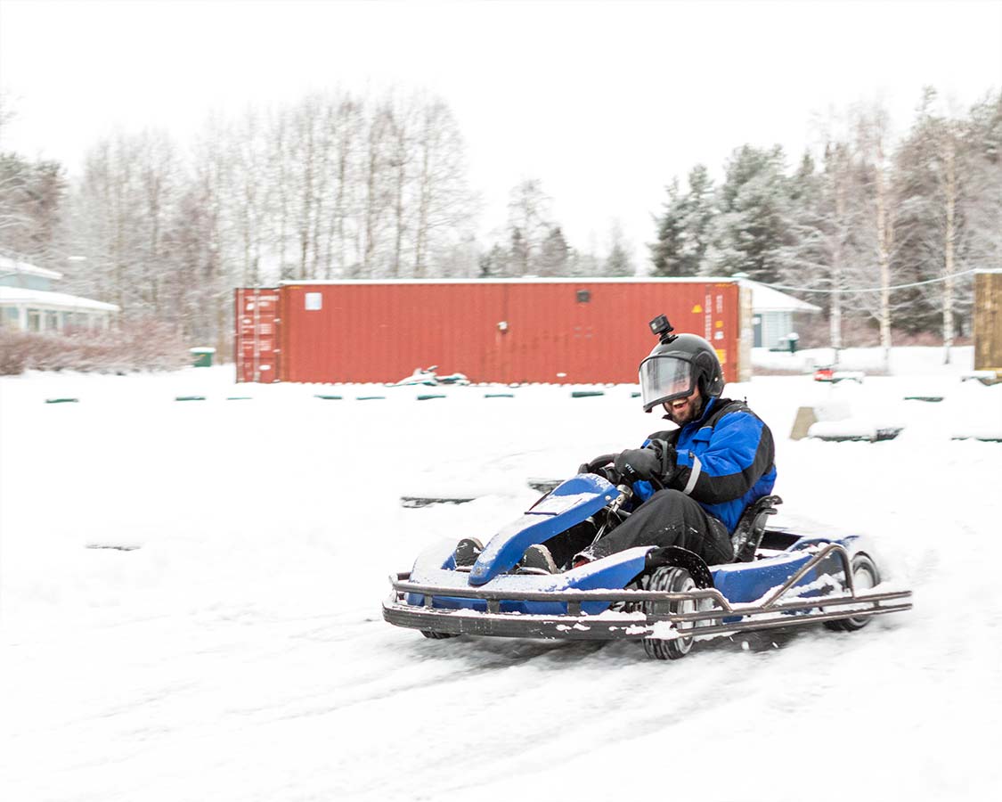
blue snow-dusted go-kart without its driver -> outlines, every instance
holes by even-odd
[[[457,563],[453,541],[427,548],[410,572],[391,575],[384,619],[432,639],[638,640],[648,656],[675,660],[697,640],[819,622],[852,632],[912,607],[910,590],[880,586],[860,537],[767,527],[779,496],[745,509],[731,537],[733,562],[707,565],[677,546],[640,546],[571,567],[576,551],[629,514],[630,485],[609,478],[582,473],[562,482],[472,564]],[[556,573],[523,562],[534,543],[553,553]]]

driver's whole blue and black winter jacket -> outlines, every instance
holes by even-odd
[[[665,484],[699,502],[732,532],[744,508],[769,495],[776,484],[776,448],[773,433],[742,401],[711,398],[698,420],[674,431],[651,434],[675,449],[676,470]],[[635,482],[642,499],[653,488]]]

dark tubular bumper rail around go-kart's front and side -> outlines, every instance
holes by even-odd
[[[791,593],[816,565],[835,552],[842,558],[846,588],[835,595],[798,597]],[[684,593],[661,590],[556,590],[516,592],[484,587],[448,587],[412,582],[409,573],[390,576],[393,591],[383,604],[383,618],[398,627],[446,635],[485,635],[502,638],[549,638],[620,640],[643,638],[697,639],[748,630],[796,627],[840,619],[861,619],[910,610],[911,590],[857,592],[851,560],[845,547],[829,543],[781,587],[750,604],[731,605],[719,590],[709,587]],[[424,597],[424,605],[407,604],[407,594]],[[481,599],[486,612],[434,607],[436,596]],[[786,599],[785,599],[786,597]],[[502,613],[502,602],[558,602],[567,605],[566,615],[537,616]],[[626,603],[625,611],[606,611],[597,616],[582,614],[584,602]],[[692,602],[690,613],[646,613],[644,602]],[[627,612],[630,611],[630,612]]]

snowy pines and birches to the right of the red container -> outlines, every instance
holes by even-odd
[[[949,358],[969,332],[961,274],[1002,267],[1002,93],[948,115],[926,89],[900,141],[884,109],[855,108],[792,172],[781,147],[742,145],[719,184],[697,164],[667,193],[656,275],[801,288],[788,292],[825,309],[834,347],[850,331],[875,330],[885,349],[892,329],[937,332]]]

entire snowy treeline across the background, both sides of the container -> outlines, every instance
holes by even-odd
[[[0,104],[0,124],[8,114]],[[615,225],[604,253],[576,249],[534,179],[512,187],[507,220],[478,243],[447,104],[331,92],[211,119],[184,149],[153,131],[111,136],[72,178],[0,154],[0,247],[63,273],[59,289],[118,304],[126,321],[219,348],[239,286],[648,271],[828,291],[792,292],[825,309],[836,346],[862,330],[890,346],[892,327],[949,346],[970,314],[963,274],[1002,263],[1002,94],[950,115],[926,90],[901,140],[881,108],[854,109],[825,140],[792,169],[780,147],[749,144],[719,183],[693,166],[668,186],[651,264],[637,266]]]

